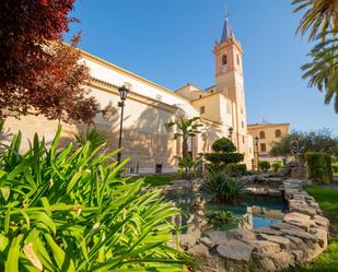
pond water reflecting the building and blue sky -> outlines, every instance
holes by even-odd
[[[206,227],[206,214],[210,211],[231,211],[235,216],[241,217],[237,221],[223,224],[217,228],[223,230],[246,227],[266,227],[275,223],[281,223],[288,204],[282,197],[250,197],[245,196],[235,204],[214,203],[210,201],[210,196],[206,192],[194,192],[187,189],[172,191],[165,197],[174,201],[176,206],[180,208],[183,215],[176,218],[176,224],[182,226],[183,232],[189,232],[189,228]]]

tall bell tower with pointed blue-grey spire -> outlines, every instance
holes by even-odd
[[[247,151],[247,122],[243,78],[243,49],[231,27],[228,14],[224,20],[220,42],[214,45],[215,58],[215,91],[222,93],[230,105],[233,128],[232,140],[238,152]],[[225,107],[225,105],[224,105]]]

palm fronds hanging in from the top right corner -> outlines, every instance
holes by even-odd
[[[294,12],[305,10],[298,32],[310,32],[308,42],[318,40],[310,56],[312,61],[302,67],[308,86],[326,91],[325,104],[335,97],[338,114],[338,0],[293,0]]]

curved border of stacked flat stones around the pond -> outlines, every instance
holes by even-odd
[[[290,213],[283,222],[254,229],[210,230],[199,238],[182,236],[182,247],[194,256],[199,271],[278,271],[320,255],[328,244],[329,221],[304,181],[283,181]]]

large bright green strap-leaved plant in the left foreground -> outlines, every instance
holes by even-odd
[[[57,151],[60,132],[24,154],[19,133],[1,158],[0,271],[184,271],[189,258],[166,245],[178,210],[117,178],[116,151]]]

